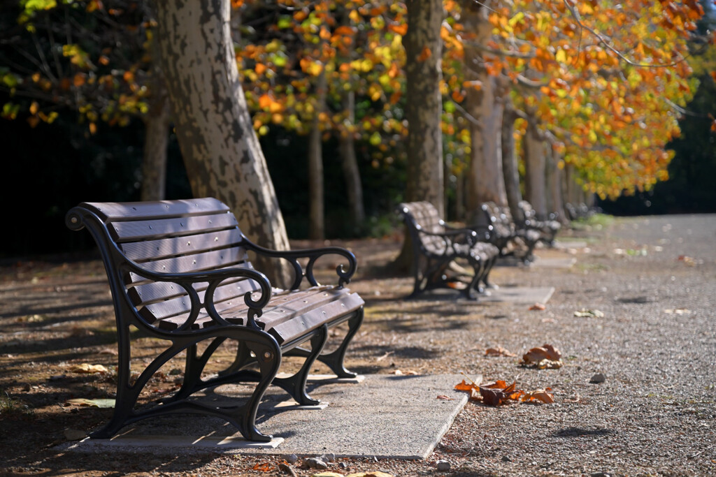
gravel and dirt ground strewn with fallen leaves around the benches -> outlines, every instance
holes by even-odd
[[[495,408],[469,402],[425,461],[344,459],[329,463],[329,470],[395,476],[716,474],[716,216],[619,219],[559,238],[586,240],[587,247],[538,254],[574,255],[573,267],[499,267],[493,274],[503,287],[555,287],[545,310],[436,297],[404,300],[412,280],[379,273],[400,242],[344,244],[362,266],[351,287],[367,301],[366,322],[349,350],[350,368],[464,372],[485,382],[516,381],[523,390],[551,388],[555,403]],[[107,418],[107,410],[66,403],[112,392],[111,377],[69,371],[76,363],[113,365],[104,272],[96,261],[18,262],[0,272],[1,475],[288,475],[277,458],[58,453],[54,446],[67,441],[67,430],[88,431]],[[603,316],[575,315],[586,310]],[[561,350],[561,368],[518,365],[523,353],[546,343]],[[149,355],[154,346],[142,349]],[[518,357],[485,356],[486,348],[496,346]],[[604,382],[590,383],[597,373]],[[174,385],[170,377],[155,384],[157,393]],[[294,473],[318,472],[299,468],[302,461],[290,466]]]

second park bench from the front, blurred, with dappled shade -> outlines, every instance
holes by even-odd
[[[488,276],[499,251],[488,242],[488,227],[480,232],[450,227],[430,202],[405,202],[399,211],[413,245],[415,286],[411,296],[435,288],[462,287],[465,297],[475,299],[483,292],[480,283],[490,286]],[[473,274],[463,273],[458,260],[468,262]]]

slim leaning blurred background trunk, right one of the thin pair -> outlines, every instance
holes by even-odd
[[[343,97],[343,109],[348,113],[347,120],[349,125],[352,126],[355,122],[354,92],[349,91]],[[351,130],[342,132],[339,139],[339,153],[341,154],[343,177],[346,181],[351,230],[354,235],[359,235],[365,221],[365,208],[363,206],[363,185],[356,157],[355,139]]]

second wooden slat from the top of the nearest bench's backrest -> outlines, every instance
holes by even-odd
[[[197,232],[211,232],[236,227],[236,218],[231,214],[198,215],[171,219],[137,220],[112,222],[110,232],[117,242],[155,240],[164,237],[182,237]]]

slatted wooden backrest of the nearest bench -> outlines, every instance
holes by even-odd
[[[134,272],[122,272],[131,260],[153,272],[178,273],[253,268],[242,242],[246,238],[236,217],[211,197],[159,202],[83,202],[73,209],[95,237],[110,282],[125,288],[132,305],[149,325],[183,323],[191,309],[188,293],[170,282],[149,281]],[[72,211],[68,220],[72,220]],[[72,225],[70,225],[72,226]],[[113,245],[116,245],[114,247]],[[207,284],[195,285],[203,301]],[[259,290],[245,278],[226,280],[214,293],[217,310],[243,305],[246,292]],[[116,300],[116,298],[115,298]],[[168,326],[166,326],[168,325]]]

